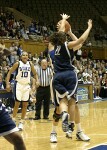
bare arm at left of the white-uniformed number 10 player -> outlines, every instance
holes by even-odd
[[[9,92],[10,91],[10,77],[11,77],[11,74],[16,71],[16,69],[18,68],[19,66],[19,63],[16,62],[9,70],[8,74],[7,74],[7,77],[6,77],[6,90]]]

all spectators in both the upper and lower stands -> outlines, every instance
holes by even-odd
[[[13,13],[0,13],[0,36],[13,39],[29,39],[31,35],[43,36],[46,39],[53,31],[56,30],[54,24],[46,25],[32,21],[28,28],[25,27],[24,21],[16,21]],[[106,36],[105,36],[106,37]],[[88,46],[91,47],[91,42]],[[0,41],[0,50],[5,48],[4,40]],[[10,67],[20,59],[23,47],[18,42],[12,42],[9,47],[11,55],[3,56],[3,62],[0,64],[0,89],[5,89],[5,78]],[[35,65],[35,69],[40,65],[40,61],[46,58],[50,65],[50,59],[46,51],[41,52],[40,56],[29,53],[29,60]],[[79,49],[75,54],[74,66],[78,73],[78,80],[83,84],[93,84],[94,98],[107,98],[107,61],[93,60],[92,50]],[[14,74],[11,80],[14,79]]]

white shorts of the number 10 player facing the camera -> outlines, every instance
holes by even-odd
[[[30,85],[23,85],[16,83],[16,100],[17,101],[28,101],[30,95]]]

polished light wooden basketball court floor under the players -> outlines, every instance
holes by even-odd
[[[27,150],[87,150],[102,143],[107,144],[107,101],[79,104],[79,107],[81,125],[83,131],[91,138],[90,142],[77,141],[76,131],[73,132],[72,139],[67,139],[62,131],[60,120],[57,130],[58,143],[50,143],[52,108],[49,120],[29,120],[29,117],[34,117],[34,112],[27,113],[24,131],[20,132]],[[18,119],[19,117],[20,114]],[[13,150],[13,146],[0,137],[0,150]]]

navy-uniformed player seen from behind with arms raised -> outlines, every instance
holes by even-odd
[[[63,24],[65,18],[68,17],[66,14],[62,15],[63,18]],[[54,45],[55,49],[55,76],[53,80],[53,86],[56,90],[56,97],[57,97],[57,103],[59,103],[59,112],[57,107],[57,112],[54,112],[54,122],[53,122],[53,132],[51,133],[51,142],[57,142],[56,139],[56,126],[58,124],[59,118],[60,118],[60,112],[62,112],[62,129],[64,132],[68,132],[69,129],[73,131],[74,128],[74,120],[75,120],[75,109],[76,109],[76,122],[78,123],[78,129],[81,130],[80,125],[80,114],[78,110],[78,106],[75,105],[76,100],[76,89],[77,89],[77,75],[74,72],[74,67],[71,65],[71,60],[73,60],[74,50],[73,48],[78,47],[80,44],[83,44],[83,42],[87,39],[88,34],[92,28],[92,21],[88,21],[88,28],[83,33],[83,35],[79,39],[74,39],[76,41],[73,42],[66,42],[66,35],[63,32],[54,33],[50,37],[50,42],[52,45]],[[63,30],[64,31],[64,30]],[[69,33],[72,37],[72,32]],[[75,38],[75,36],[74,36]],[[68,108],[67,108],[68,106]],[[67,109],[70,114],[70,124],[68,124],[68,113]],[[83,141],[90,140],[89,137],[84,135],[84,137],[81,138],[80,135],[83,135],[83,132],[77,133],[77,138]],[[67,133],[68,136],[68,133]]]

